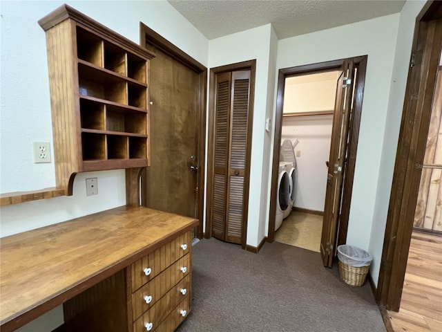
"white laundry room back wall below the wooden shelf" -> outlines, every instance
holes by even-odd
[[[332,125],[333,115],[282,118],[281,142],[298,139],[296,208],[324,211]]]

